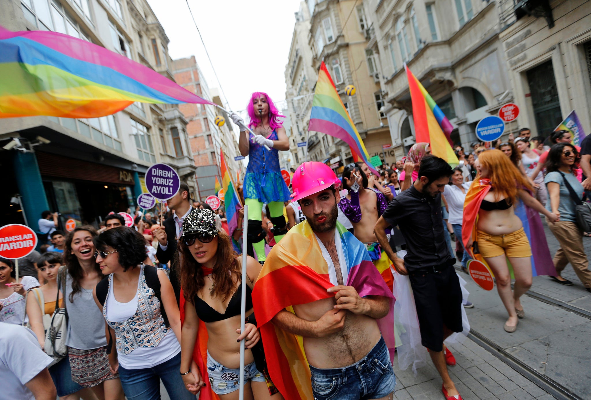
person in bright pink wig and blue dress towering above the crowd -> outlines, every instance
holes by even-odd
[[[244,202],[248,205],[247,253],[262,264],[265,256],[265,231],[262,229],[263,203],[269,206],[269,219],[273,223],[273,234],[279,242],[287,233],[283,216],[283,202],[290,200],[290,190],[285,185],[279,167],[279,151],[289,150],[290,144],[279,113],[267,93],[252,93],[246,106],[251,121],[249,128],[255,136],[246,132],[246,125],[236,113],[230,117],[240,127],[240,154],[248,155],[248,167],[244,176]]]

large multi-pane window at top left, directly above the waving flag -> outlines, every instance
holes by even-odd
[[[88,8],[87,0],[77,1],[80,1],[80,4],[85,4],[86,9]],[[57,0],[22,0],[21,8],[25,18],[40,30],[56,31],[90,41],[88,35],[80,28],[80,25],[74,21],[74,18],[63,9]],[[90,18],[90,14],[88,16]]]

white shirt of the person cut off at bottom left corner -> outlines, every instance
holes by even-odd
[[[37,337],[24,326],[0,322],[0,376],[2,398],[35,400],[25,386],[53,359],[41,350]]]

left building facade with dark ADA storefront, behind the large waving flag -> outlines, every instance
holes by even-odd
[[[173,79],[168,38],[145,0],[0,0],[0,9],[0,25],[9,30],[72,35]],[[2,146],[13,138],[20,145],[2,150],[9,177],[2,225],[26,218],[37,230],[41,212],[51,210],[61,213],[62,228],[70,218],[98,226],[109,212],[135,209],[136,197],[146,191],[144,173],[155,162],[176,168],[194,198],[196,167],[186,125],[177,105],[144,103],[93,119],[3,119]],[[15,194],[22,209],[9,206]]]

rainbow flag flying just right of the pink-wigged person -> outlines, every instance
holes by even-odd
[[[341,139],[350,146],[351,154],[355,152],[359,155],[361,161],[368,165],[369,170],[379,177],[378,171],[369,162],[369,153],[336,91],[335,83],[324,61],[320,64],[308,129]]]

